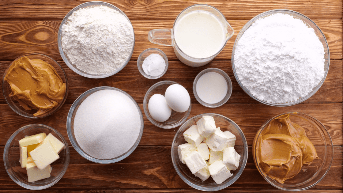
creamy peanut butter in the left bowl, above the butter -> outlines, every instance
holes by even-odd
[[[57,106],[66,93],[66,84],[55,68],[40,59],[19,58],[9,67],[4,78],[11,94],[26,110],[35,109],[38,116]]]

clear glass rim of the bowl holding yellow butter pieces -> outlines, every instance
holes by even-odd
[[[62,142],[64,143],[64,148],[66,149],[66,162],[63,163],[63,169],[61,171],[61,173],[59,174],[58,178],[54,181],[52,181],[51,183],[44,185],[44,186],[32,186],[32,185],[28,185],[28,184],[24,184],[21,181],[18,181],[17,179],[15,179],[10,173],[10,171],[8,170],[8,163],[7,163],[7,153],[9,152],[9,145],[11,144],[12,140],[14,139],[14,137],[16,135],[18,135],[20,132],[22,132],[23,130],[25,130],[26,128],[30,128],[30,127],[44,127],[47,129],[52,130],[53,132],[55,132],[61,139]],[[10,176],[10,178],[18,185],[22,186],[23,188],[29,189],[29,190],[43,190],[43,189],[47,189],[49,187],[51,187],[52,185],[56,184],[62,177],[63,175],[66,173],[68,166],[69,166],[69,162],[70,162],[70,150],[69,150],[69,146],[68,143],[66,141],[66,139],[63,137],[63,135],[56,130],[55,128],[52,128],[50,126],[44,125],[44,124],[29,124],[29,125],[25,125],[20,127],[19,129],[17,129],[11,136],[10,138],[7,140],[4,151],[3,151],[3,162],[4,162],[4,167],[5,170],[7,172],[7,174]]]

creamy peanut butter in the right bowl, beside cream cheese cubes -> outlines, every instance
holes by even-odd
[[[262,172],[280,183],[293,178],[304,164],[318,158],[304,128],[293,123],[289,114],[272,120],[255,144],[256,162]]]

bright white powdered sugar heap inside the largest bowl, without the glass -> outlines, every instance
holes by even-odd
[[[288,14],[257,20],[240,37],[237,76],[256,98],[270,103],[306,96],[324,77],[324,47],[314,29]]]

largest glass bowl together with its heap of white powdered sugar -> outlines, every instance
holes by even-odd
[[[312,34],[302,33],[303,30],[300,33],[289,32],[285,25],[282,26],[280,20],[277,20],[279,18],[265,24],[265,26],[269,25],[269,28],[256,27],[257,24],[261,25],[261,21],[267,21],[265,19],[268,16],[276,14],[291,17],[287,20],[300,20],[296,27],[305,25],[309,28],[307,31]],[[279,28],[279,32],[270,35],[280,25],[282,30]],[[255,32],[251,33],[251,30]],[[293,42],[314,36],[313,33],[319,39],[316,45]],[[244,35],[245,37],[242,38]],[[259,39],[256,40],[257,38]],[[289,42],[296,45],[296,49],[287,47]],[[322,56],[316,59],[315,49],[321,46]],[[319,60],[321,64],[318,64]],[[288,64],[294,66],[289,67]],[[307,68],[305,64],[308,65]],[[329,64],[329,47],[322,31],[308,17],[291,10],[270,10],[251,19],[240,30],[232,50],[232,69],[239,86],[253,99],[271,106],[291,106],[310,98],[323,84]],[[322,67],[319,68],[320,65]],[[313,73],[311,68],[320,69],[320,73]]]

